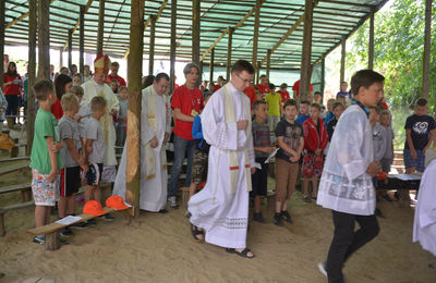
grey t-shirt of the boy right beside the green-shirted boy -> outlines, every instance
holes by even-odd
[[[75,119],[62,116],[61,120],[59,120],[59,135],[62,140],[65,138],[73,139],[74,147],[80,152],[82,147],[81,136],[78,133],[78,123]],[[71,156],[66,144],[64,144],[61,149],[61,160],[64,168],[78,165],[74,158]]]

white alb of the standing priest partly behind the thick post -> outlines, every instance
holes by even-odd
[[[171,133],[171,112],[168,99],[162,96],[155,95],[156,101],[156,122],[157,133],[153,132],[148,121],[148,103],[147,97],[149,91],[154,91],[154,86],[149,86],[143,90],[142,109],[141,109],[141,189],[140,189],[140,208],[148,211],[159,211],[165,209],[167,204],[167,182],[168,172],[162,169],[162,157],[166,155],[162,150],[162,142],[165,133]],[[147,180],[147,162],[145,155],[145,146],[156,136],[158,146],[153,148],[155,156],[155,176]],[[165,146],[164,146],[165,147]],[[116,183],[113,186],[113,195],[121,196],[125,199],[125,167],[126,167],[126,144],[121,158],[120,168]]]

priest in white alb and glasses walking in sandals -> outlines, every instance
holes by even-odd
[[[203,110],[203,136],[210,145],[207,183],[187,204],[195,239],[245,258],[254,257],[246,248],[246,230],[255,168],[251,106],[243,90],[253,76],[250,62],[237,61],[230,83],[216,91]]]

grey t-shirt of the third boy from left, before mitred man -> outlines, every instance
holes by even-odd
[[[105,160],[105,132],[100,122],[90,116],[86,124],[86,139],[93,139],[93,150],[89,153],[89,162],[102,163]]]

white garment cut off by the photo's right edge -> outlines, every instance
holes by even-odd
[[[413,242],[436,256],[436,159],[429,162],[421,179],[413,224]]]

